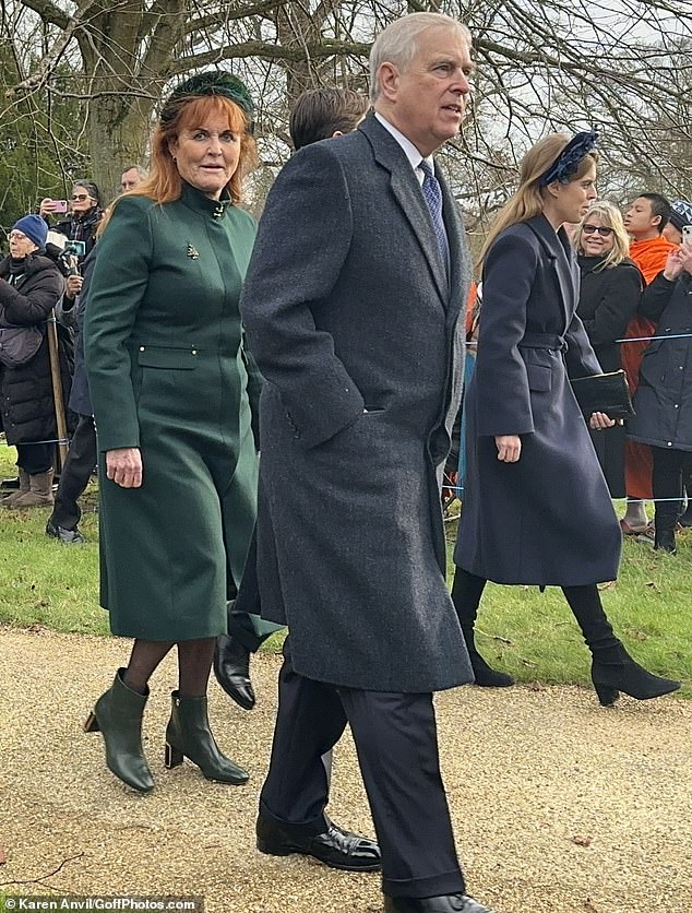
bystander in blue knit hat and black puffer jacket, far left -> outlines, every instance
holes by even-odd
[[[0,416],[20,471],[19,490],[0,501],[8,508],[52,503],[57,427],[46,320],[64,278],[46,254],[47,234],[43,218],[23,216],[10,232],[10,256],[0,262]],[[67,402],[73,358],[67,331],[59,353]]]

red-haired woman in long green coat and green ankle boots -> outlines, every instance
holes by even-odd
[[[251,117],[246,86],[228,73],[174,91],[151,176],[115,204],[88,295],[100,601],[112,632],[134,645],[85,728],[102,732],[108,768],[141,792],[154,785],[141,740],[147,683],[174,645],[166,766],[184,756],[208,780],[248,779],[214,740],[206,688],[255,517],[261,380],[238,311],[255,234],[238,206],[255,155]]]

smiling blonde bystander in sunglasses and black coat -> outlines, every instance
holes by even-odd
[[[636,313],[644,277],[630,260],[630,239],[620,211],[596,202],[580,222],[574,240],[582,275],[576,308],[604,372],[622,368],[621,340]],[[625,429],[592,431],[598,462],[612,498],[624,498]]]

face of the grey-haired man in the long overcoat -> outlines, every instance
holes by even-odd
[[[456,29],[444,26],[419,36],[418,52],[406,71],[382,64],[387,116],[421,155],[430,155],[458,133],[473,72],[468,44]]]

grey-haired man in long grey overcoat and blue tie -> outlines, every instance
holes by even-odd
[[[285,166],[241,311],[260,407],[262,614],[286,624],[258,847],[382,868],[385,911],[487,913],[466,894],[432,692],[473,680],[445,583],[439,479],[458,410],[469,264],[432,159],[473,71],[465,26],[390,25],[370,115]],[[350,724],[378,843],[325,814],[321,756]]]

